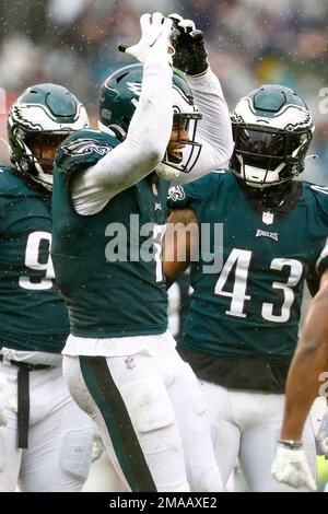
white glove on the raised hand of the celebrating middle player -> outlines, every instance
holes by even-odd
[[[119,45],[118,49],[130,54],[140,62],[145,62],[150,56],[165,57],[172,65],[174,48],[171,42],[173,21],[164,17],[161,12],[142,14],[140,17],[141,38],[132,46]]]

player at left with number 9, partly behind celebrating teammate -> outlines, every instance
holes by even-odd
[[[80,491],[93,428],[70,397],[60,354],[68,313],[56,289],[51,243],[52,161],[87,127],[66,87],[36,84],[8,118],[11,167],[0,167],[0,490]]]

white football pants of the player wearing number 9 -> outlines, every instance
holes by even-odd
[[[16,365],[0,362],[13,398]],[[80,491],[86,480],[93,446],[91,420],[69,395],[61,366],[30,372],[28,447],[17,448],[16,409],[5,404],[0,428],[0,491]]]

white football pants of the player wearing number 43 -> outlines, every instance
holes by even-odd
[[[270,475],[282,427],[284,395],[227,389],[209,382],[202,382],[201,388],[224,484],[238,458],[250,491],[307,490],[295,490]],[[315,477],[316,448],[309,418],[303,432],[303,443]]]

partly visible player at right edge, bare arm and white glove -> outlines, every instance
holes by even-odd
[[[316,396],[319,394],[327,398],[327,245],[317,262],[317,270],[323,273],[320,288],[307,314],[289,371],[283,425],[271,468],[273,477],[281,482],[295,488],[306,486],[312,490],[316,490],[316,482],[304,453],[302,432]],[[317,454],[328,458],[328,410],[324,413],[316,434],[316,443]]]

